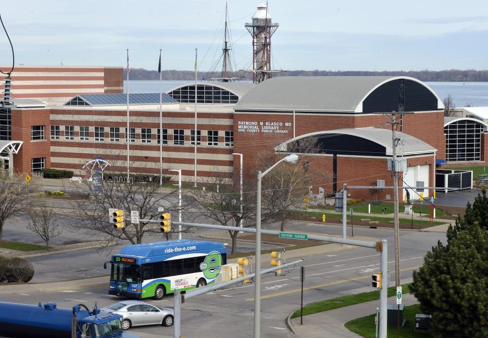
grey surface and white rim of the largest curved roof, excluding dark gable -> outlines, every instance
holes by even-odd
[[[398,79],[417,82],[437,98],[425,83],[407,76],[281,76],[261,82],[249,90],[235,110],[286,110],[308,112],[362,112],[362,103],[381,85]]]

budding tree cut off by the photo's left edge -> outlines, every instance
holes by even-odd
[[[0,240],[5,222],[25,212],[37,191],[37,186],[27,183],[24,175],[9,176],[8,171],[0,170]]]

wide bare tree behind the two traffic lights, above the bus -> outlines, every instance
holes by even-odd
[[[114,167],[123,168],[124,166],[114,165]],[[138,169],[141,170],[141,168]],[[146,171],[148,172],[148,170]],[[164,207],[164,212],[171,212],[173,220],[174,215],[179,211],[178,187],[163,193],[160,191],[159,175],[157,179],[154,179],[155,177],[155,175],[131,174],[130,182],[127,182],[126,173],[107,170],[104,173],[104,179],[96,180],[95,185],[87,179],[82,179],[77,185],[88,192],[89,198],[71,201],[76,221],[70,224],[69,228],[72,231],[81,231],[89,236],[96,236],[107,241],[107,244],[113,244],[117,240],[140,244],[145,234],[160,233],[160,227],[155,223],[130,224],[131,211],[138,211],[140,219],[149,220],[159,219],[161,212],[158,212],[158,208],[160,207]],[[182,203],[181,209],[185,209],[186,206],[186,202]],[[115,229],[113,224],[110,224],[108,217],[110,208],[125,211],[125,227]],[[190,230],[184,231],[189,232]]]

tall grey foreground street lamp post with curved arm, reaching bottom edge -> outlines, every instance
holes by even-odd
[[[260,336],[260,325],[261,325],[261,180],[269,173],[273,168],[275,168],[281,162],[295,163],[298,160],[298,155],[290,154],[275,164],[271,165],[268,170],[261,173],[258,171],[258,186],[257,186],[257,197],[256,197],[256,283],[254,285],[254,338],[259,338]]]

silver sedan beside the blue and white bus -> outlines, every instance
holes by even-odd
[[[100,309],[100,311],[121,315],[123,317],[122,328],[124,330],[129,329],[131,326],[140,325],[173,325],[173,310],[160,308],[140,300],[118,301]]]

